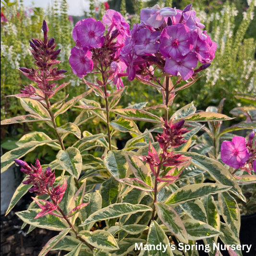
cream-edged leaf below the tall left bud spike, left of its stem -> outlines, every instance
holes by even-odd
[[[37,100],[31,98],[20,98],[20,102],[24,110],[39,118],[50,119],[51,117],[47,109]]]

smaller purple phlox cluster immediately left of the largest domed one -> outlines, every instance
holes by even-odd
[[[100,72],[104,69],[109,74],[108,80],[120,89],[127,66],[119,57],[124,41],[130,35],[129,27],[121,13],[114,10],[107,10],[102,22],[93,18],[79,21],[73,29],[76,46],[69,59],[73,73],[83,78],[94,68]]]

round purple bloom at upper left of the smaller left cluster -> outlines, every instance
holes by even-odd
[[[76,30],[76,36],[82,47],[100,48],[105,42],[105,26],[101,21],[88,18]]]

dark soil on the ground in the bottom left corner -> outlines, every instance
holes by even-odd
[[[36,228],[26,234],[29,225],[21,230],[23,221],[15,212],[26,210],[32,202],[31,196],[30,193],[24,195],[7,216],[1,215],[1,256],[38,256],[43,246],[59,233]],[[59,252],[50,251],[47,255],[60,256]]]

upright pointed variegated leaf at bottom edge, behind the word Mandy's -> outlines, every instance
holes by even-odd
[[[167,246],[167,250],[165,252],[162,252],[162,250],[157,250],[158,244],[163,245],[169,245],[169,240],[165,234],[165,232],[162,230],[162,228],[158,225],[158,223],[153,220],[151,221],[149,230],[148,230],[148,236],[147,236],[147,242],[146,245],[155,245],[153,248],[150,248],[148,251],[149,256],[173,256],[171,252],[171,247]],[[144,245],[144,248],[146,247]],[[159,246],[159,245],[158,245]]]

